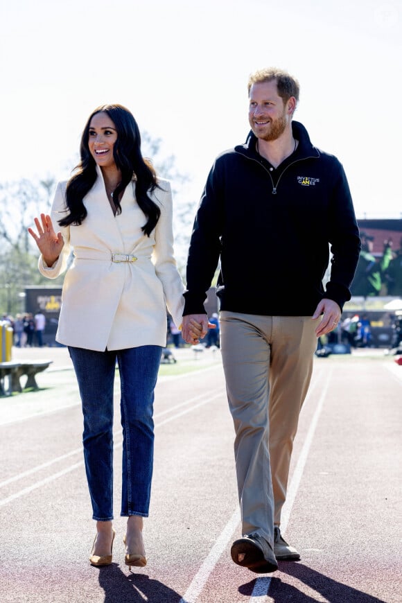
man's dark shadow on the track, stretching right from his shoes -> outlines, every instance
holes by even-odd
[[[383,599],[377,599],[377,597],[367,595],[367,593],[358,591],[356,588],[336,582],[336,580],[304,566],[303,563],[280,561],[279,571],[295,577],[300,582],[304,582],[312,591],[319,593],[330,603],[350,603],[351,601],[353,603],[386,603]],[[252,580],[240,586],[238,589],[239,593],[250,596],[255,582],[255,580]],[[283,603],[284,601],[295,603],[317,602],[315,597],[313,598],[306,595],[306,593],[302,593],[297,586],[282,582],[277,575],[271,577],[268,595],[276,603]]]

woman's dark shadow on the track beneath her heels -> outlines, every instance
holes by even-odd
[[[104,603],[178,603],[182,598],[145,574],[123,573],[117,563],[99,568],[99,584],[105,591]]]

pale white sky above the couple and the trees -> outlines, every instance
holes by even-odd
[[[268,66],[298,78],[295,119],[344,165],[357,216],[400,218],[401,0],[3,1],[0,182],[68,177],[87,117],[116,102],[197,204]]]

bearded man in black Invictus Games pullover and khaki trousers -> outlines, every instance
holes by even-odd
[[[360,238],[342,165],[292,122],[297,80],[264,69],[248,90],[252,131],[216,159],[195,217],[182,333],[189,342],[194,318],[207,334],[203,303],[220,257],[220,339],[243,533],[231,557],[266,573],[277,559],[300,558],[280,532],[292,443],[317,337],[335,328],[350,299]]]

